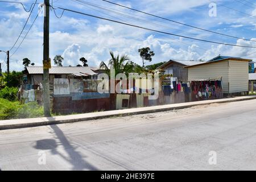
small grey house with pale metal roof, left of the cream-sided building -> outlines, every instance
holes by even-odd
[[[170,60],[158,67],[157,69],[164,71],[165,75],[177,77],[178,81],[188,81],[188,68],[186,66],[197,65],[204,61],[185,61],[185,60]]]

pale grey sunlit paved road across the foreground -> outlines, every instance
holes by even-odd
[[[256,100],[0,131],[0,168],[255,170]]]

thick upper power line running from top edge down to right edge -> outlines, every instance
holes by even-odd
[[[156,18],[160,18],[160,19],[164,19],[164,20],[167,20],[167,21],[170,21],[170,22],[174,22],[174,23],[182,24],[182,25],[184,25],[184,26],[188,26],[188,27],[196,28],[196,29],[198,29],[198,30],[203,30],[203,31],[211,32],[211,33],[213,33],[213,34],[218,34],[218,35],[222,35],[222,36],[228,36],[228,37],[230,37],[230,38],[236,38],[236,39],[247,40],[247,41],[250,41],[250,42],[256,42],[255,40],[250,40],[250,39],[240,38],[240,37],[237,37],[237,36],[232,36],[232,35],[222,34],[222,33],[220,33],[220,32],[211,31],[211,30],[207,30],[207,29],[204,29],[204,28],[200,28],[200,27],[192,26],[192,25],[190,25],[190,24],[185,24],[185,23],[177,22],[177,21],[175,21],[175,20],[171,20],[171,19],[168,19],[168,18],[163,18],[163,17],[158,16],[158,15],[154,15],[154,14],[146,13],[146,12],[144,12],[144,11],[136,10],[136,9],[131,8],[131,7],[127,7],[127,6],[124,6],[124,5],[120,5],[120,4],[118,4],[118,3],[114,3],[114,2],[111,2],[111,1],[106,1],[106,0],[102,0],[102,1],[105,1],[105,2],[111,3],[111,4],[113,4],[113,5],[117,5],[117,6],[125,7],[126,9],[130,9],[130,10],[133,10],[133,11],[137,11],[137,12],[139,12],[139,13],[143,13],[143,14],[147,14],[147,15],[150,15],[150,16],[154,16],[154,17],[156,17]],[[209,1],[210,1],[210,0],[209,0]]]

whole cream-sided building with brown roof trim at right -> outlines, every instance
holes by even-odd
[[[241,57],[217,56],[205,63],[185,68],[188,68],[188,81],[222,78],[224,94],[235,94],[248,92],[250,61]]]

